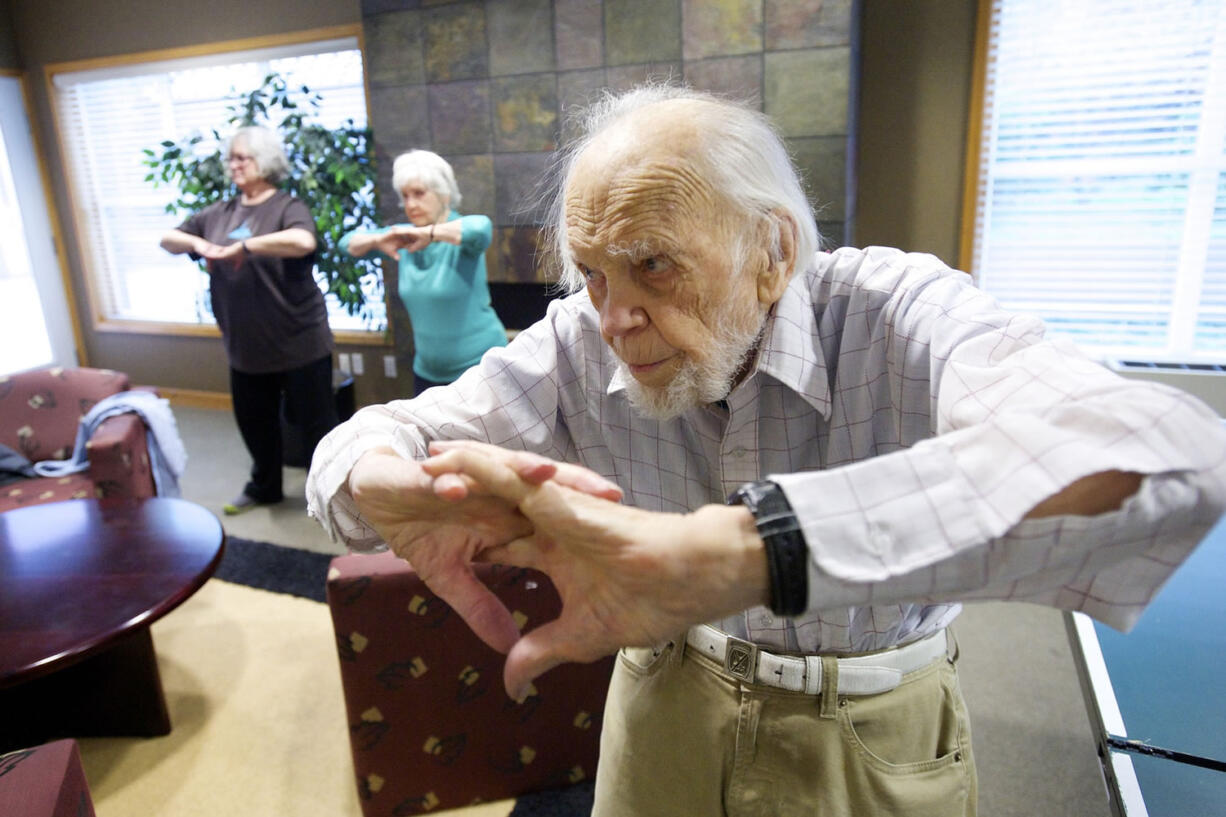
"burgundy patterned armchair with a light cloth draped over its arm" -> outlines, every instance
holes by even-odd
[[[109,369],[50,368],[0,377],[0,444],[31,462],[67,459],[81,417],[103,397],[129,389],[128,375]],[[80,474],[0,485],[0,512],[60,499],[157,493],[140,416],[104,420],[88,450],[89,467]]]

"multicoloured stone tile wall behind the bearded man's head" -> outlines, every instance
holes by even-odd
[[[461,211],[494,221],[490,280],[543,282],[541,183],[552,152],[571,136],[568,113],[603,88],[672,77],[749,99],[772,117],[823,236],[845,243],[853,7],[853,0],[363,0],[381,215],[403,217],[392,158],[433,150],[456,169]]]

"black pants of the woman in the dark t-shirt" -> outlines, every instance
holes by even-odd
[[[336,427],[332,356],[288,372],[248,374],[230,368],[234,420],[251,454],[251,481],[243,491],[256,502],[281,502],[281,399],[303,427],[308,451]]]

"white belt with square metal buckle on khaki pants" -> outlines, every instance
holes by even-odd
[[[690,628],[685,644],[722,665],[726,675],[748,683],[818,694],[821,692],[820,655],[775,655],[707,624]],[[839,693],[872,696],[889,692],[907,672],[945,658],[945,631],[939,629],[904,646],[839,658]]]

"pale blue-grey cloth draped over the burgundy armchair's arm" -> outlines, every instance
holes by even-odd
[[[179,496],[179,475],[188,465],[188,451],[179,437],[179,427],[174,422],[170,402],[150,391],[120,391],[103,397],[81,418],[77,427],[72,456],[66,460],[43,460],[34,462],[39,476],[67,476],[89,467],[89,450],[86,443],[93,437],[102,421],[114,415],[135,412],[145,421],[148,429],[145,434],[150,449],[150,467],[153,471],[153,483],[159,497]]]

